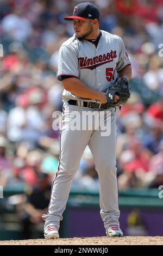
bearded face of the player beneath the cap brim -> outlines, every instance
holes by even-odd
[[[91,19],[73,20],[74,31],[79,39],[89,39],[89,35],[93,32]]]

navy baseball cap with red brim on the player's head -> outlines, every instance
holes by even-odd
[[[80,3],[74,7],[73,15],[64,17],[64,20],[71,21],[73,19],[85,20],[85,19],[97,19],[99,21],[99,9],[95,4],[86,2]]]

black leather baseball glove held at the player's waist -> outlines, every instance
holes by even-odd
[[[130,91],[128,87],[128,80],[122,76],[118,76],[116,81],[112,83],[106,90],[106,104],[115,107],[126,103],[130,97]],[[115,95],[118,95],[120,99],[115,103]]]

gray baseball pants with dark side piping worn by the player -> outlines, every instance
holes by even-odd
[[[52,194],[49,203],[48,214],[43,215],[45,225],[53,223],[59,228],[62,213],[66,208],[74,175],[78,170],[80,159],[86,145],[89,145],[95,162],[95,168],[99,178],[99,205],[104,227],[111,224],[119,224],[118,218],[118,188],[116,176],[116,115],[115,109],[99,110],[73,105],[64,105],[61,121],[60,158],[58,172],[55,175]],[[102,136],[101,127],[93,123],[91,130],[70,130],[67,125],[73,119],[73,113],[77,111],[82,115],[84,111],[105,113],[106,125],[110,125],[110,134]],[[85,122],[85,120],[82,120]]]

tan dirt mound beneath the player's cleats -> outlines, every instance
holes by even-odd
[[[163,245],[162,236],[73,237],[55,240],[9,240],[0,245]]]

